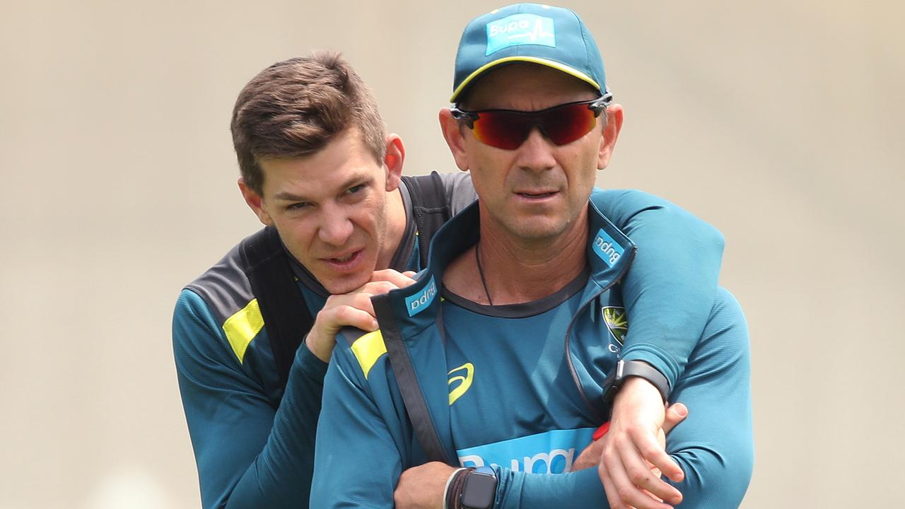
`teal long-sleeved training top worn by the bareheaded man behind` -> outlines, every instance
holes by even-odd
[[[443,178],[453,211],[471,203],[467,174]],[[642,246],[624,278],[624,298],[633,322],[646,327],[633,326],[624,355],[647,360],[674,383],[717,290],[722,236],[661,198],[640,191],[599,193],[606,197],[605,213]],[[405,189],[403,198],[406,235],[391,266],[419,270]],[[303,267],[294,268],[315,316],[328,295]],[[283,393],[267,327],[235,248],[179,295],[173,345],[203,507],[305,507],[327,363],[302,346]]]

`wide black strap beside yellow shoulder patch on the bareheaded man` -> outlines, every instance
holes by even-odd
[[[273,360],[286,387],[295,352],[314,320],[301,296],[289,257],[276,228],[268,226],[243,240],[240,247],[245,274],[252,283],[261,316],[267,326]]]

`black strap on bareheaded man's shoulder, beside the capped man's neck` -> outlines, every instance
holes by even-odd
[[[443,178],[436,171],[419,177],[403,177],[405,187],[412,197],[414,224],[418,228],[418,251],[421,266],[427,266],[427,249],[433,234],[452,216]]]

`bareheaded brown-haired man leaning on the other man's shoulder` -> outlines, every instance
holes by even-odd
[[[232,130],[239,187],[266,227],[180,294],[179,388],[205,508],[305,506],[337,331],[375,331],[370,297],[413,283],[433,233],[475,195],[463,173],[402,177],[402,140],[386,133],[370,91],[337,53],[263,70],[240,93]],[[611,198],[607,214],[643,247],[624,277],[625,309],[609,320],[617,332],[626,315],[648,327],[610,348],[697,338],[721,235],[662,199],[601,193]],[[689,278],[659,275],[671,273]],[[646,426],[655,441],[656,390],[620,398],[627,409],[614,419]]]

